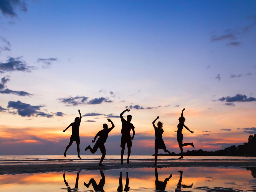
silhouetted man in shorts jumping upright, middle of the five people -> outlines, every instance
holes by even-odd
[[[129,164],[129,157],[131,155],[131,147],[132,147],[132,140],[134,138],[135,135],[135,131],[134,131],[134,126],[131,123],[132,120],[132,116],[131,115],[127,115],[127,121],[124,119],[123,114],[126,111],[130,111],[130,109],[125,109],[122,113],[120,113],[120,117],[121,117],[121,122],[122,122],[122,137],[121,137],[121,145],[120,147],[122,148],[121,150],[121,164],[124,164],[123,161],[123,156],[124,156],[124,149],[125,149],[125,143],[127,143],[127,149],[128,149],[128,157],[127,157],[127,164]],[[131,137],[130,131],[132,129],[133,135]]]

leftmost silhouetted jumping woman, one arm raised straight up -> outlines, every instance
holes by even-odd
[[[76,141],[77,153],[78,153],[77,157],[79,157],[79,159],[82,160],[82,158],[80,157],[80,147],[79,147],[79,145],[80,145],[79,126],[80,126],[80,123],[81,123],[82,116],[81,116],[81,113],[80,113],[79,109],[78,109],[78,112],[79,112],[80,118],[76,117],[75,122],[68,125],[68,127],[63,131],[63,132],[65,132],[69,127],[72,126],[72,134],[71,134],[71,137],[70,137],[69,144],[66,147],[66,150],[64,152],[64,156],[66,157],[66,152],[67,152],[68,148],[72,145],[73,141]]]

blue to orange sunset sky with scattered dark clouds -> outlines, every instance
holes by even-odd
[[[179,153],[183,108],[195,131],[183,129],[183,142],[196,150],[247,142],[256,133],[255,10],[249,0],[1,0],[0,155],[62,155],[78,109],[81,155],[107,118],[107,155],[120,154],[126,108],[131,155],[154,154],[157,116]],[[76,154],[74,143],[67,155]]]

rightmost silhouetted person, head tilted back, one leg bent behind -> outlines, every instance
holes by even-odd
[[[177,126],[178,127],[178,130],[177,130],[177,141],[179,143],[180,152],[181,152],[181,156],[179,157],[179,159],[183,159],[183,148],[182,147],[191,145],[193,148],[195,148],[193,143],[183,143],[182,144],[182,140],[183,140],[182,129],[183,129],[183,127],[185,127],[189,132],[194,133],[194,131],[190,131],[188,129],[188,127],[184,124],[184,122],[186,121],[185,117],[183,116],[183,111],[184,110],[185,110],[185,108],[181,112],[181,116],[179,118],[180,123]]]

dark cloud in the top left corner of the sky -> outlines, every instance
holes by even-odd
[[[19,7],[21,11],[27,12],[27,4],[24,1],[20,0],[1,0],[0,1],[0,10],[4,16],[17,17],[17,13],[14,12],[14,9]]]

